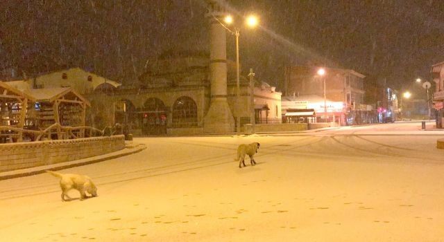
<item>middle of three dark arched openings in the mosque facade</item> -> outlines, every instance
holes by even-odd
[[[142,133],[159,135],[167,133],[167,107],[157,97],[149,97],[142,107]]]

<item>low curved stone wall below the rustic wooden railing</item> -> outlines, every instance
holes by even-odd
[[[0,172],[80,160],[124,148],[124,136],[0,144]]]

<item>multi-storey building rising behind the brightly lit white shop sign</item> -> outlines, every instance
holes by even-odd
[[[341,125],[370,122],[370,106],[364,104],[364,77],[361,73],[349,69],[325,68],[325,75],[317,75],[319,66],[287,66],[284,75],[284,97],[291,100],[296,96],[316,95],[321,97],[321,106],[325,96],[327,100],[341,102],[342,107],[316,111],[317,122],[337,122]],[[316,101],[316,102],[318,102]],[[334,110],[335,111],[334,111]]]

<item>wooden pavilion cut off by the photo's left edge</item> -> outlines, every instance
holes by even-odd
[[[23,131],[32,122],[35,98],[0,82],[0,142],[21,142]]]

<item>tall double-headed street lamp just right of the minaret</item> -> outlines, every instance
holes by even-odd
[[[225,24],[232,24],[233,18],[231,15],[228,15],[224,19]],[[254,28],[258,24],[257,17],[254,15],[250,15],[246,18],[246,24],[250,28]],[[234,28],[234,32],[230,30],[230,28],[225,27],[222,25],[226,30],[232,33],[232,35],[236,36],[236,104],[234,105],[236,111],[236,121],[237,121],[237,135],[239,136],[241,134],[241,115],[239,111],[239,98],[240,98],[240,84],[239,84],[239,28]]]

